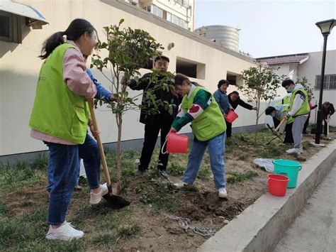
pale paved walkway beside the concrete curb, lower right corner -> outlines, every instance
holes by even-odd
[[[336,251],[336,165],[274,249],[282,251]]]

